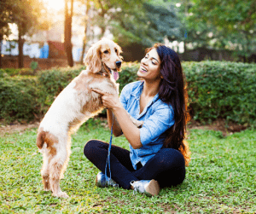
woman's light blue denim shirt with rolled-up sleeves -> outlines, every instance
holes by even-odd
[[[159,95],[155,95],[152,101],[140,114],[140,96],[143,92],[143,81],[137,81],[125,85],[119,100],[131,117],[144,121],[140,129],[140,140],[142,147],[134,149],[130,145],[130,158],[133,168],[137,170],[137,163],[145,165],[148,159],[154,157],[165,142],[168,130],[174,124],[174,113],[172,106],[161,101]]]

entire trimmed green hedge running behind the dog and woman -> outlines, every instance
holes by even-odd
[[[139,63],[124,63],[119,90],[137,80]],[[85,67],[51,69],[36,77],[14,76],[0,69],[0,118],[8,121],[43,116],[55,96]],[[212,122],[226,119],[256,124],[256,65],[221,62],[183,62],[193,119]],[[12,77],[11,77],[12,76]]]

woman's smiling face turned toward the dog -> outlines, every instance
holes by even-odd
[[[161,78],[160,57],[156,49],[151,49],[142,59],[137,76],[145,80],[154,81]]]

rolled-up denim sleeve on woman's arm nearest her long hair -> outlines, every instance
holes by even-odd
[[[140,129],[140,140],[143,146],[154,142],[162,133],[174,124],[174,114],[171,107],[157,108]]]

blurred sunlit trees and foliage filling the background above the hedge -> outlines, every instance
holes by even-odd
[[[254,0],[65,0],[63,3],[65,9],[56,13],[43,0],[1,1],[0,41],[8,39],[9,23],[15,23],[19,30],[20,67],[23,67],[21,46],[25,40],[29,41],[34,32],[50,29],[56,14],[65,19],[65,47],[71,67],[72,29],[78,23],[84,29],[83,55],[86,45],[89,47],[92,41],[110,32],[114,41],[122,44],[129,61],[141,59],[146,47],[165,43],[166,39],[183,43],[188,55],[189,50],[207,49],[216,50],[219,58],[222,53],[231,53],[229,59],[233,61],[256,61]],[[99,34],[95,33],[96,28],[100,29]]]

